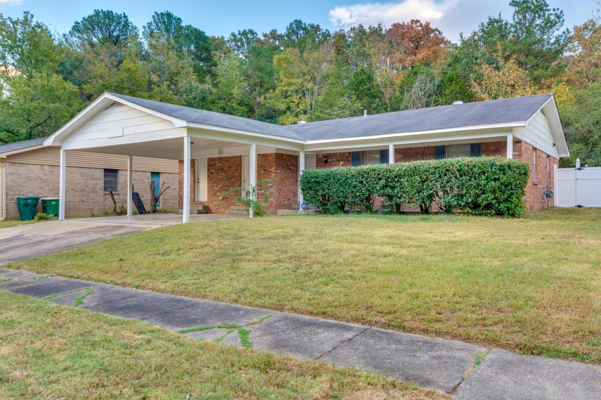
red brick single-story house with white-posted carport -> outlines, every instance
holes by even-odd
[[[225,213],[233,205],[232,196],[222,196],[226,190],[263,178],[273,180],[268,210],[275,213],[302,201],[298,177],[305,168],[460,156],[528,162],[526,201],[537,211],[546,205],[554,165],[569,156],[553,94],[278,126],[105,93],[44,145],[61,148],[61,171],[71,151],[178,160],[184,222],[202,206]],[[61,198],[70,184],[63,172]]]

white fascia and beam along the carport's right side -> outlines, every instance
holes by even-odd
[[[248,132],[245,130],[230,129],[212,125],[188,123],[188,135],[195,138],[216,139],[228,142],[256,144],[269,147],[278,147],[285,150],[302,150],[305,141],[298,139],[279,138],[263,133]]]

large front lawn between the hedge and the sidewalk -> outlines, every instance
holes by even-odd
[[[200,222],[11,267],[601,363],[601,210]]]

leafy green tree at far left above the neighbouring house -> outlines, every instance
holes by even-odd
[[[79,91],[59,74],[61,53],[31,14],[0,14],[0,141],[50,135],[75,115]]]

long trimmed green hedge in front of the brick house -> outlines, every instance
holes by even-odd
[[[373,211],[381,197],[396,213],[437,205],[447,213],[521,216],[529,165],[500,157],[463,157],[410,163],[308,169],[304,201],[325,213]]]

